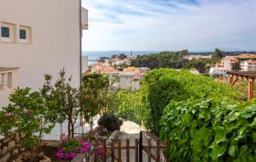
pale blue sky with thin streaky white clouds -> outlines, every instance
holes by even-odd
[[[256,0],[82,0],[84,51],[256,50]]]

